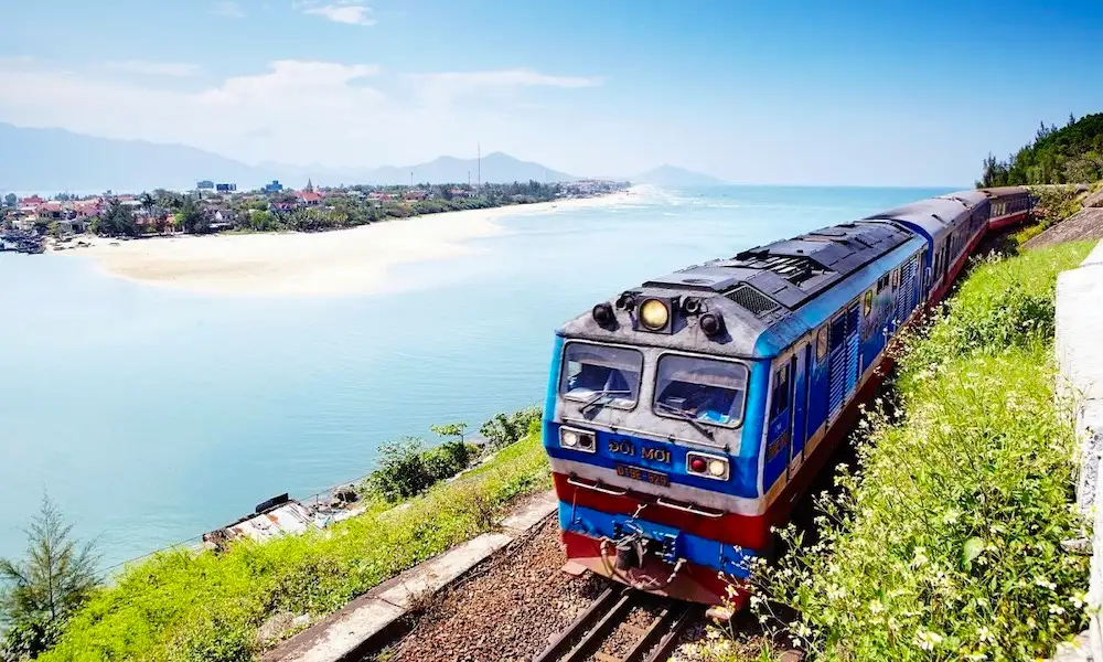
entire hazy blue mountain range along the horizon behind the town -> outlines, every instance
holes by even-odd
[[[476,159],[439,157],[406,167],[345,168],[260,163],[250,166],[182,145],[142,140],[117,140],[73,134],[64,129],[36,129],[0,122],[0,191],[71,191],[98,193],[144,191],[157,188],[189,190],[200,180],[236,183],[239,190],[258,188],[271,180],[301,186],[315,184],[463,183],[471,181],[557,181],[585,179],[559,172],[502,152]],[[722,181],[673,166],[662,166],[636,177],[612,178],[656,185],[707,185]]]

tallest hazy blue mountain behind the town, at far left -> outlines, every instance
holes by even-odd
[[[278,177],[264,168],[182,145],[94,138],[3,122],[0,154],[0,189],[6,191],[189,189],[201,179],[255,188]]]

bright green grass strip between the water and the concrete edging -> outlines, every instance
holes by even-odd
[[[511,500],[550,485],[538,434],[392,509],[224,554],[176,551],[128,567],[71,620],[43,661],[253,660],[278,615],[332,612],[494,525]],[[289,632],[281,633],[282,636]]]

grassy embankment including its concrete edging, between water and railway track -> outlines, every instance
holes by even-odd
[[[376,628],[523,536],[546,513],[525,500],[548,488],[544,448],[529,434],[398,506],[375,503],[324,530],[219,554],[159,553],[97,590],[38,659],[243,662],[306,629],[332,645],[301,659],[349,659]],[[513,512],[518,503],[532,509]],[[393,607],[342,620],[365,595]]]

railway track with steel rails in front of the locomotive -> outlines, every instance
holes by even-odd
[[[662,662],[677,644],[695,607],[613,586],[533,662]]]

